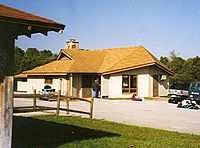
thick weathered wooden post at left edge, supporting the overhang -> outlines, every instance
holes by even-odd
[[[13,121],[14,37],[0,24],[0,147],[10,148]]]

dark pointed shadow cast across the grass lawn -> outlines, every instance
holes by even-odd
[[[115,133],[28,117],[14,116],[13,121],[13,148],[55,148],[73,141],[120,136]]]

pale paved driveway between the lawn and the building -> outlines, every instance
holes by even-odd
[[[30,105],[31,103],[32,102],[29,101],[29,99],[16,99],[14,105]],[[55,106],[56,102],[38,101],[38,104]],[[65,107],[65,103],[62,102],[61,106]],[[87,111],[89,110],[89,104],[84,102],[70,102],[70,108]],[[65,114],[65,112],[62,113]],[[177,108],[176,104],[169,104],[166,101],[134,102],[131,100],[109,101],[96,99],[93,117],[129,125],[153,127],[200,135],[199,116],[200,110]],[[86,117],[86,115],[84,115],[84,117]]]

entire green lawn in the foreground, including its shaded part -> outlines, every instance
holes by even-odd
[[[13,148],[194,148],[200,135],[64,116],[14,117]]]

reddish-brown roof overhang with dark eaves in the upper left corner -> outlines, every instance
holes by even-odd
[[[31,34],[48,34],[48,31],[62,32],[65,25],[41,16],[0,4],[0,27],[9,28],[6,31],[17,38],[20,35],[31,37]]]

